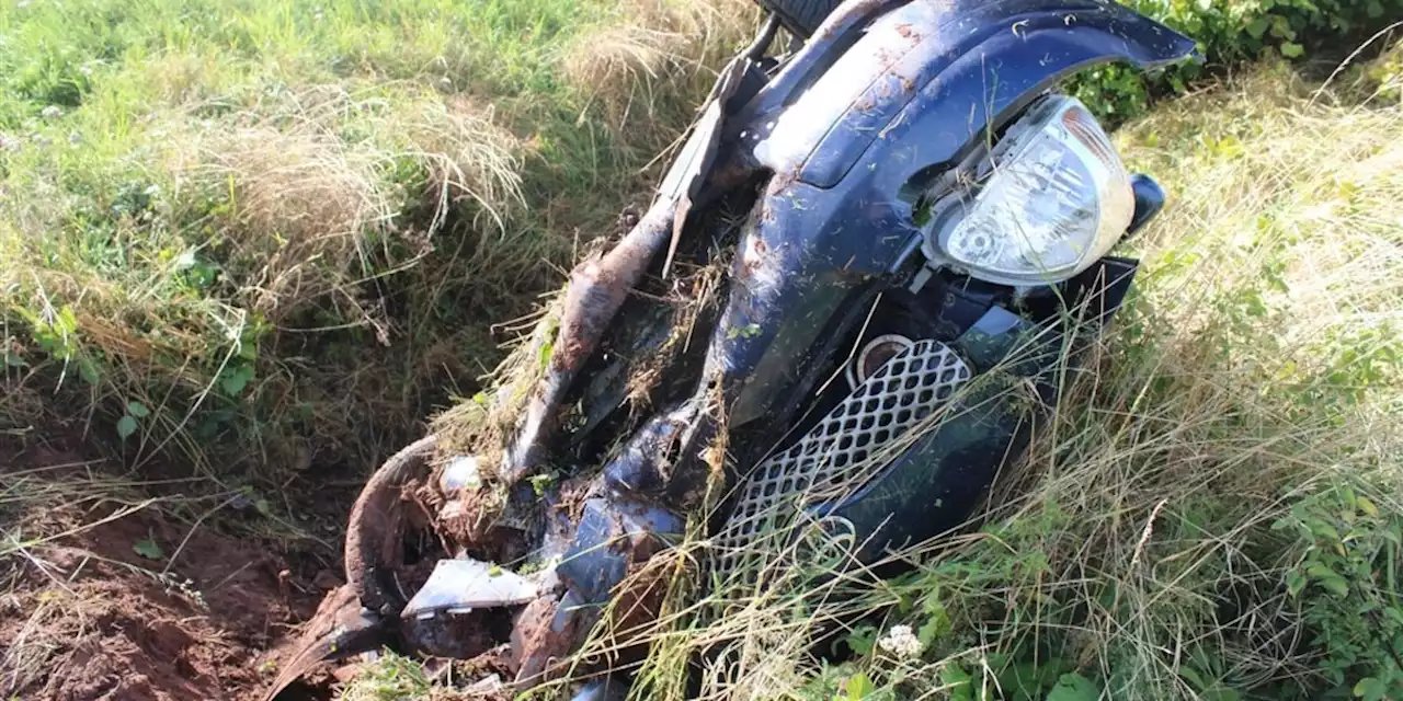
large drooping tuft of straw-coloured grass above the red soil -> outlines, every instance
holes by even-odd
[[[231,269],[247,271],[236,283],[251,308],[275,322],[328,296],[355,310],[345,317],[373,320],[358,300],[372,271],[431,252],[463,200],[474,205],[474,224],[497,230],[521,205],[522,144],[490,109],[463,100],[425,95],[391,111],[375,94],[323,86],[244,122],[206,135],[189,177],[223,195],[216,245],[227,245]],[[348,122],[362,133],[348,137]],[[427,182],[405,182],[397,171],[407,163]],[[410,188],[425,200],[407,199]],[[401,229],[407,207],[428,209],[421,230]]]

